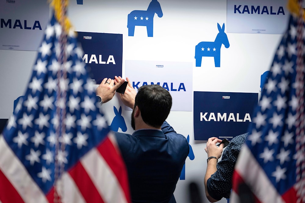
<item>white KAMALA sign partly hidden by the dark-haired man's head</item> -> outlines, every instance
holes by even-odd
[[[192,67],[192,62],[126,60],[125,76],[136,90],[151,84],[167,89],[173,98],[172,111],[192,111]]]

